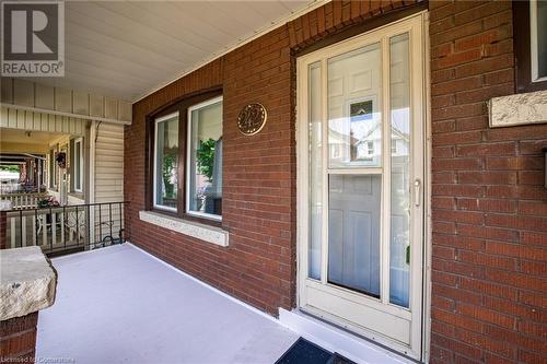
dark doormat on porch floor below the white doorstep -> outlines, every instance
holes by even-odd
[[[289,350],[277,360],[276,364],[356,364],[338,353],[331,353],[325,349],[299,338]]]

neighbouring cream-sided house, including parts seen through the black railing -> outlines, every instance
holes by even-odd
[[[62,247],[69,239],[67,230],[79,245],[88,228],[97,242],[110,234],[110,227],[117,237],[123,224],[117,219],[120,207],[114,206],[110,212],[108,206],[101,211],[93,206],[88,220],[85,206],[124,201],[124,124],[130,122],[130,104],[20,79],[2,79],[1,85],[0,158],[31,161],[30,169],[37,176],[34,189],[19,188],[1,198],[11,200],[15,209],[37,208],[49,197],[61,207],[80,206],[78,213],[67,213],[62,221],[57,218],[54,236],[51,231],[42,236],[46,218],[28,216],[23,223],[13,215],[8,222],[8,247],[31,244],[31,237],[42,245]],[[50,224],[51,219],[47,221]],[[23,242],[19,242],[20,224],[26,231]]]

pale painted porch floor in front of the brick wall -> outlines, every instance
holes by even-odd
[[[298,334],[125,244],[53,259],[36,360],[274,363]]]

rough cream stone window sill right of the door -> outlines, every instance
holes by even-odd
[[[493,97],[488,103],[490,128],[547,122],[547,91]]]

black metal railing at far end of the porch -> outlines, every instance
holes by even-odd
[[[48,256],[123,244],[128,202],[13,209],[5,213],[5,247],[39,246]]]

